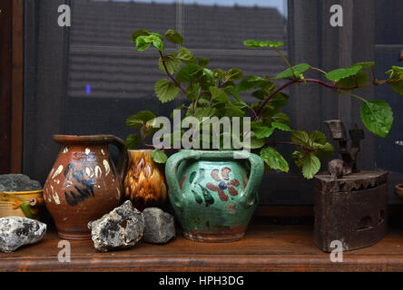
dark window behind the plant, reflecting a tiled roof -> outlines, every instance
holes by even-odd
[[[211,67],[240,67],[245,75],[273,75],[285,69],[276,53],[249,50],[242,45],[245,39],[282,41],[286,43],[283,53],[291,63],[307,62],[326,70],[376,59],[378,73],[397,64],[402,45],[397,27],[403,10],[397,0],[64,2],[72,9],[70,28],[57,25],[60,4],[25,1],[24,171],[42,181],[57,155],[52,134],[112,133],[125,138],[131,131],[124,121],[133,113],[152,108],[166,115],[166,106],[153,95],[153,83],[162,77],[155,52],[135,51],[130,35],[136,29],[163,33],[175,28],[196,56],[210,59]],[[329,25],[329,7],[334,4],[343,4],[343,29]],[[398,134],[403,126],[399,121],[403,105],[388,88],[366,93],[392,103],[396,121],[385,140],[366,132],[359,166],[402,172],[403,163],[396,159],[401,149],[394,140],[403,139]],[[348,129],[359,120],[359,102],[341,100],[334,92],[308,85],[294,87],[290,94],[286,112],[294,129],[327,132],[323,121],[339,115]],[[250,96],[245,98],[251,102]],[[177,98],[170,105],[177,107],[183,100]],[[280,150],[290,157],[292,148]],[[265,177],[260,188],[262,204],[313,203],[312,182],[302,179],[289,161],[290,174],[273,172]],[[393,175],[391,185],[400,176]]]

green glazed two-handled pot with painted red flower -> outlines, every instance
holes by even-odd
[[[259,203],[263,160],[247,151],[182,150],[165,168],[169,199],[184,237],[240,240]]]

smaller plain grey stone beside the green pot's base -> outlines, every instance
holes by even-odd
[[[173,216],[161,208],[145,208],[143,241],[152,244],[165,244],[175,237]]]

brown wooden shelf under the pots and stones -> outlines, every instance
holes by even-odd
[[[313,243],[312,226],[254,223],[234,243],[205,244],[179,233],[163,246],[140,242],[124,251],[99,253],[92,241],[71,241],[72,260],[59,263],[54,231],[39,244],[0,254],[1,271],[403,271],[403,227],[373,247],[344,253],[343,263]]]

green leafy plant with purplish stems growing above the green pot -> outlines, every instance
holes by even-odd
[[[164,41],[178,44],[175,53],[165,53]],[[349,68],[340,68],[329,73],[311,66],[309,63],[300,63],[291,66],[287,58],[280,52],[280,42],[246,40],[244,45],[251,49],[267,48],[279,53],[288,68],[276,76],[243,76],[238,68],[223,71],[219,68],[209,69],[209,60],[197,59],[195,55],[183,45],[183,37],[170,29],[165,35],[156,34],[147,30],[138,30],[132,35],[137,51],[145,51],[154,47],[159,54],[159,68],[166,74],[155,83],[155,95],[161,102],[171,102],[180,93],[187,98],[181,110],[184,116],[193,116],[202,121],[204,117],[251,117],[250,146],[251,150],[260,152],[267,169],[289,171],[288,162],[276,150],[277,145],[295,146],[292,158],[302,170],[305,178],[311,179],[320,169],[320,160],[333,156],[333,146],[326,140],[325,134],[320,131],[307,133],[290,129],[290,118],[281,110],[289,102],[290,96],[284,89],[290,85],[304,85],[309,82],[317,83],[338,94],[345,94],[357,98],[362,102],[360,111],[361,120],[367,129],[379,137],[385,138],[393,123],[393,112],[387,102],[381,100],[367,101],[353,93],[356,90],[370,85],[388,84],[395,92],[403,94],[403,68],[394,66],[387,72],[388,78],[379,81],[375,74],[375,63],[356,63]],[[305,78],[308,71],[323,73],[329,82],[318,79]],[[369,81],[369,73],[372,80]],[[276,81],[282,81],[276,86]],[[242,100],[242,93],[250,93],[256,102],[247,103]],[[152,126],[155,115],[151,111],[141,111],[126,121],[127,126],[140,129],[140,135],[128,136],[126,143],[133,149],[139,144],[147,144],[145,139],[156,129]],[[241,119],[242,120],[242,119]],[[277,131],[290,133],[290,140],[273,140]],[[200,141],[211,143],[211,136],[203,135],[203,123]],[[183,132],[181,131],[181,134]],[[182,135],[180,135],[182,136]],[[221,136],[223,137],[223,136]],[[240,136],[240,140],[244,139]],[[173,134],[171,144],[173,142]],[[211,148],[211,147],[210,147]],[[155,149],[152,158],[156,162],[166,161],[163,152],[167,148]],[[222,149],[222,148],[221,148]]]

